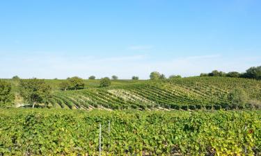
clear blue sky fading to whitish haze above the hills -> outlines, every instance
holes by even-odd
[[[261,65],[259,0],[3,0],[0,78],[197,76]]]

